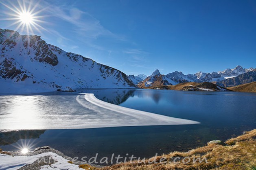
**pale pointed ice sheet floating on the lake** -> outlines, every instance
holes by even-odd
[[[0,130],[82,129],[140,125],[185,125],[197,121],[125,108],[77,96],[0,96]]]

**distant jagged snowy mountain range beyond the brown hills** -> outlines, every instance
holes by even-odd
[[[150,86],[159,86],[159,85],[177,85],[179,83],[186,82],[221,82],[225,83],[225,80],[237,77],[241,74],[249,73],[254,71],[253,68],[245,69],[242,66],[236,66],[235,68],[228,68],[224,71],[219,72],[197,72],[196,74],[183,74],[182,72],[172,72],[169,74],[161,74],[159,70],[155,70],[149,77],[140,81],[138,83],[138,87],[150,87]],[[245,78],[245,77],[244,77]],[[250,78],[252,79],[252,78]],[[244,82],[251,82],[250,80],[244,80]],[[236,84],[236,83],[234,83]],[[239,84],[239,83],[238,83]],[[221,83],[219,83],[221,85]],[[225,85],[223,87],[230,87],[229,85]]]

